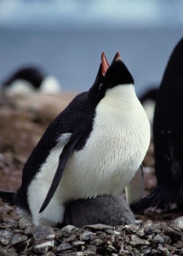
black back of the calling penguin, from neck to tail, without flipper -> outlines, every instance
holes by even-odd
[[[77,150],[83,148],[92,131],[95,108],[98,102],[88,97],[88,92],[76,96],[49,125],[43,137],[37,143],[23,169],[22,185],[15,195],[15,205],[29,211],[26,201],[27,187],[39,172],[52,148],[57,144],[61,134],[73,133],[72,137],[82,134],[83,138],[77,144]],[[51,170],[50,170],[51,172]]]

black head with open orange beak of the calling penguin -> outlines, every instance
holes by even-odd
[[[118,52],[110,67],[106,61],[106,56],[104,56],[104,53],[102,53],[99,71],[88,93],[89,98],[97,102],[100,102],[108,89],[112,89],[120,84],[134,84],[134,79],[123,61],[121,61]]]

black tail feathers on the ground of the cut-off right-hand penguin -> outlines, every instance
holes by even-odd
[[[140,201],[134,201],[130,204],[130,208],[134,213],[147,212],[174,212],[183,211],[183,196],[178,189],[162,189],[156,188],[142,198]]]

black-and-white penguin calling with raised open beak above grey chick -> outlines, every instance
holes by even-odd
[[[14,202],[34,224],[62,223],[65,204],[119,195],[150,143],[150,125],[134,79],[115,55],[102,63],[93,86],[54,119],[23,170]]]

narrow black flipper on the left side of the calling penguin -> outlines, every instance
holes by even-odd
[[[68,143],[66,143],[66,146],[63,148],[63,150],[60,154],[60,158],[59,158],[59,166],[54,174],[53,182],[49,188],[49,192],[46,196],[46,199],[43,202],[43,205],[42,205],[39,213],[43,212],[43,210],[49,205],[49,202],[51,201],[52,197],[54,196],[54,192],[56,191],[56,189],[60,183],[60,179],[61,179],[62,174],[66,168],[66,165],[67,165],[68,161],[70,160],[71,154],[77,147],[77,143],[79,142],[79,140],[81,138],[82,138],[82,135],[80,134],[77,136],[77,138],[75,140],[71,139]]]

